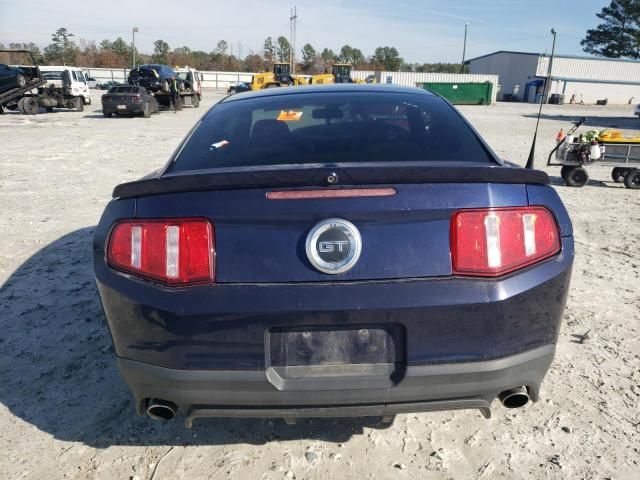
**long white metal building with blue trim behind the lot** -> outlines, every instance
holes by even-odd
[[[549,56],[498,51],[465,62],[472,74],[498,75],[499,100],[535,102],[542,94]],[[555,55],[548,96],[565,103],[640,102],[640,61]],[[548,100],[548,99],[547,99]]]

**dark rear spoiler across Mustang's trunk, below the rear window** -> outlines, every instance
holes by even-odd
[[[424,162],[385,164],[245,167],[171,173],[127,182],[113,190],[113,198],[164,193],[250,188],[343,187],[402,183],[515,183],[549,184],[539,170],[508,165]]]

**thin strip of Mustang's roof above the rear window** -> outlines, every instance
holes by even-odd
[[[223,102],[236,102],[248,100],[250,98],[275,97],[280,95],[308,95],[314,93],[337,93],[337,92],[355,92],[355,93],[405,93],[412,95],[428,95],[434,94],[428,90],[416,87],[401,87],[386,83],[378,84],[355,84],[355,83],[334,83],[330,85],[304,85],[300,87],[281,87],[281,88],[265,88],[252,92],[238,93],[223,99]]]

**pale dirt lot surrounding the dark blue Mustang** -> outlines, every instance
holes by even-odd
[[[90,249],[113,186],[160,167],[204,109],[148,120],[98,109],[0,116],[0,477],[638,478],[639,191],[606,169],[581,189],[548,170],[574,222],[576,263],[539,403],[506,411],[496,402],[488,421],[475,411],[401,415],[386,430],[369,420],[200,420],[186,430],[136,416]],[[462,110],[501,156],[524,163],[534,106]],[[640,127],[631,106],[545,110],[538,166],[579,116]]]

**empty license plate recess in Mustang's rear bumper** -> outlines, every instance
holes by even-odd
[[[275,327],[267,376],[280,390],[390,388],[404,375],[402,325]]]

